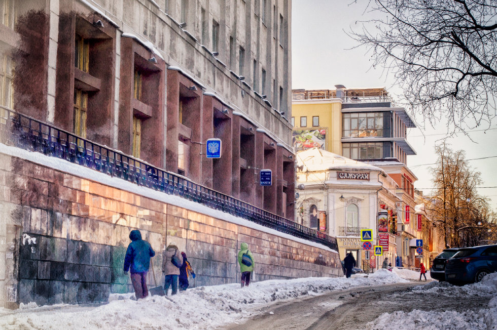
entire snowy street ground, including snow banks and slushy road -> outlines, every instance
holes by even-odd
[[[497,298],[488,302],[497,293],[497,274],[462,287],[438,282],[419,285],[424,283],[405,279],[416,276],[379,270],[349,279],[269,280],[244,288],[239,284],[203,286],[140,301],[129,299],[129,294],[112,295],[109,304],[98,307],[28,304],[16,311],[0,309],[0,328],[492,329],[497,325]],[[265,322],[250,325],[258,320]]]

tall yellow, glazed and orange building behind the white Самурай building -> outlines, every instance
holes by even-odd
[[[381,168],[395,184],[378,192],[376,209],[387,213],[390,224],[397,222],[397,228],[388,230],[388,241],[396,242],[397,262],[414,266],[417,178],[407,166],[407,156],[416,153],[407,141],[407,129],[415,124],[384,88],[335,87],[293,90],[294,148],[318,147]]]

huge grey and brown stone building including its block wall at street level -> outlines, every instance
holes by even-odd
[[[172,241],[198,285],[236,280],[240,241],[256,279],[338,274],[291,221],[291,2],[0,3],[0,307],[129,290],[135,228],[156,273]]]

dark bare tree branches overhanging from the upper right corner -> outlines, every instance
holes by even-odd
[[[454,130],[490,125],[497,95],[495,0],[370,0],[368,10],[379,18],[349,34],[368,47],[373,66],[394,72],[415,114],[432,126],[447,118]]]

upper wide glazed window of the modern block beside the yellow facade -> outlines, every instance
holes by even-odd
[[[382,137],[383,112],[362,112],[343,114],[342,137]]]

